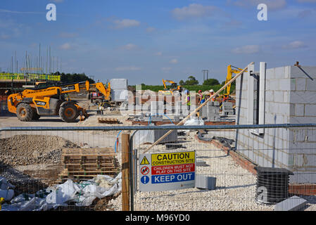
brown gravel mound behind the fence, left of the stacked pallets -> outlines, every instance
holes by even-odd
[[[15,135],[0,139],[1,161],[6,165],[61,162],[62,148],[80,148],[59,136]]]

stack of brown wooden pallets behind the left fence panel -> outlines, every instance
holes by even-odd
[[[98,174],[116,176],[120,172],[113,148],[63,148],[61,161],[60,183],[67,179],[89,180]]]

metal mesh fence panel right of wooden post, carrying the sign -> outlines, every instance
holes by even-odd
[[[138,161],[134,165],[134,210],[315,210],[315,127],[259,129],[179,129],[177,135],[171,133],[150,150],[156,141],[152,139],[153,131],[147,138],[144,132],[135,134],[133,149],[137,150]],[[153,165],[146,175],[148,181],[142,180],[141,153],[187,151],[196,153],[193,188],[139,188],[151,182],[157,184],[157,168]],[[177,178],[177,174],[186,173],[173,170],[170,175],[169,166],[161,169],[164,176],[158,182],[170,184],[172,175]]]

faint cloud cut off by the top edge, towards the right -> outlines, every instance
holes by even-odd
[[[229,3],[231,2],[229,1]],[[237,0],[233,4],[244,8],[258,6],[258,4],[267,4],[268,10],[277,10],[286,6],[286,0]]]

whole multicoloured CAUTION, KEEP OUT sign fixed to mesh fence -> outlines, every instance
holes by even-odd
[[[195,187],[195,151],[139,155],[139,191]]]

